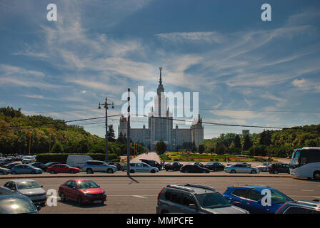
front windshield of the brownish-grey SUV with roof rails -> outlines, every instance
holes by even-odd
[[[230,207],[229,202],[218,192],[204,193],[195,195],[198,199],[201,207],[204,208],[219,208],[219,207]]]

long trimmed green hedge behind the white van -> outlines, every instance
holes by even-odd
[[[63,164],[66,164],[66,159],[69,155],[89,155],[92,157],[93,160],[99,160],[104,161],[106,159],[106,154],[99,154],[99,153],[54,153],[54,154],[39,154],[36,155],[36,161],[37,162],[61,162]],[[119,157],[116,154],[109,154],[109,161],[111,160],[118,160]]]

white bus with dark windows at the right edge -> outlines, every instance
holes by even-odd
[[[295,149],[289,167],[290,175],[320,180],[320,147]]]

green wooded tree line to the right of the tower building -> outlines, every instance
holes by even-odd
[[[221,134],[218,138],[201,142],[198,150],[220,155],[228,153],[290,157],[294,149],[301,147],[320,147],[320,124],[244,135]]]

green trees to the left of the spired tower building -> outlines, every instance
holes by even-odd
[[[116,139],[108,126],[109,154],[126,155],[126,135]],[[44,115],[24,115],[21,109],[0,108],[0,153],[27,155],[39,153],[104,153],[105,139],[92,135],[79,125],[67,125]],[[138,151],[146,148],[137,143]]]

